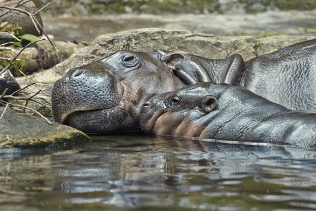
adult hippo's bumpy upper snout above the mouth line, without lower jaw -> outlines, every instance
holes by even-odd
[[[124,87],[102,63],[77,67],[55,82],[52,92],[54,119],[64,123],[79,111],[110,109],[122,99]]]

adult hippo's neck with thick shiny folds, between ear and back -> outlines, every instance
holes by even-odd
[[[210,59],[200,56],[185,55],[180,66],[196,80],[196,82],[227,83],[238,85],[245,69],[245,63],[239,54],[234,54],[225,59]],[[199,77],[197,74],[202,71],[208,78]]]

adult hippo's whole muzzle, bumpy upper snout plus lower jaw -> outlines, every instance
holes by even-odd
[[[123,93],[119,78],[113,76],[111,68],[104,63],[71,69],[54,85],[54,118],[86,133],[120,131],[122,122],[128,118],[128,112],[120,107],[124,103],[121,102]],[[117,121],[113,119],[120,120],[120,124],[115,124]]]

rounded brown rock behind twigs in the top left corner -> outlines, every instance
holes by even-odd
[[[27,12],[30,12],[32,14],[38,11],[33,1],[25,1],[25,3],[23,3],[23,1],[19,1],[19,0],[9,0],[9,1],[0,0],[1,5],[10,6],[10,7],[14,7],[16,3],[20,3],[20,6],[18,7],[19,9],[26,10]],[[7,11],[8,11],[7,9],[2,9],[0,10],[0,14],[3,14],[4,12],[7,12]],[[41,14],[39,13],[36,14],[35,18],[38,21],[38,23],[43,27]],[[3,22],[19,25],[19,27],[21,27],[21,30],[19,32],[20,34],[34,34],[36,36],[40,36],[42,34],[40,27],[38,27],[39,32],[36,30],[36,27],[34,27],[34,24],[32,23],[30,16],[27,16],[27,14],[24,14],[19,11],[14,11],[14,13],[10,12],[2,16],[0,18],[0,23],[3,23]]]

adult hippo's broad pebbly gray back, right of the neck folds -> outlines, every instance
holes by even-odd
[[[316,110],[316,39],[248,60],[240,86],[289,109]]]

